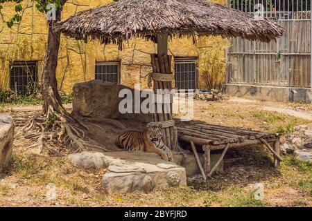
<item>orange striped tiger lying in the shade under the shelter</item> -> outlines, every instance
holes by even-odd
[[[149,124],[143,132],[126,131],[121,133],[116,140],[119,148],[128,151],[145,151],[159,154],[163,160],[173,162],[173,153],[162,142],[162,126]]]

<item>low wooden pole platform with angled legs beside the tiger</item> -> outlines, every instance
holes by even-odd
[[[198,153],[195,145],[201,146],[204,151],[204,166],[198,160],[198,166],[202,172],[204,179],[211,177],[214,170],[223,160],[225,153],[229,148],[239,148],[243,146],[254,146],[264,144],[274,156],[274,166],[277,168],[281,162],[279,156],[279,134],[266,133],[261,131],[248,131],[239,128],[231,128],[227,126],[216,126],[210,124],[194,124],[191,126],[177,127],[178,139],[191,144],[192,150],[196,158]],[[273,148],[270,144],[273,144]],[[220,159],[214,168],[210,168],[210,152],[216,150],[224,150]]]

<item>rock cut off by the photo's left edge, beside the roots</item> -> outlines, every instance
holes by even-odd
[[[0,173],[10,164],[13,135],[14,123],[12,117],[0,115]]]

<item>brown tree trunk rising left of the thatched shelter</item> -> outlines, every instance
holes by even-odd
[[[55,32],[53,26],[61,19],[61,10],[56,10],[55,21],[49,22],[48,41],[46,55],[44,57],[44,68],[42,70],[42,97],[44,99],[43,113],[48,113],[49,107],[58,113],[66,112],[58,93],[58,82],[56,80],[56,67],[58,66],[58,50],[60,48],[60,32]]]

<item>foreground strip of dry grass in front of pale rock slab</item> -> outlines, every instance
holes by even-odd
[[[272,195],[291,189],[295,195],[278,195],[279,206],[312,206],[312,164],[285,157],[281,169],[272,168],[272,159],[263,149],[243,149],[243,163],[227,167],[226,174],[215,175],[208,182],[189,180],[189,186],[158,189],[153,193],[107,195],[101,188],[105,170],[78,169],[65,157],[14,155],[6,184],[0,185],[1,206],[275,206]],[[247,155],[247,156],[246,156]],[[46,200],[45,186],[57,186],[57,200]],[[254,199],[250,184],[262,182],[263,201]],[[12,183],[17,186],[11,187]],[[277,198],[277,197],[275,197]],[[310,200],[309,200],[310,199]],[[22,202],[16,204],[17,201]]]

